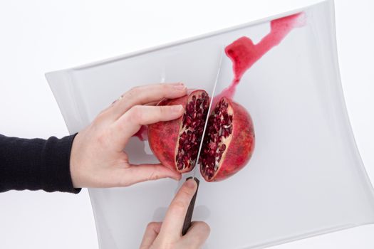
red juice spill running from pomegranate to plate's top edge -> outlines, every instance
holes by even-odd
[[[274,19],[270,22],[270,33],[261,41],[254,44],[250,38],[243,36],[224,49],[226,55],[232,60],[234,79],[229,87],[224,88],[219,95],[214,97],[212,105],[215,106],[221,97],[232,99],[237,85],[246,70],[251,68],[271,48],[277,46],[284,37],[293,29],[305,25],[305,14],[303,12],[291,16]]]

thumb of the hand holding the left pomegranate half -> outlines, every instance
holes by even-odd
[[[168,169],[162,164],[132,165],[130,168],[126,169],[125,174],[125,178],[123,179],[124,186],[162,178],[171,178],[179,181],[181,178],[180,173],[173,171],[172,169]]]

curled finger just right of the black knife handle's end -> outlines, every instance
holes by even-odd
[[[210,228],[204,221],[194,221],[191,227],[183,236],[183,244],[189,245],[189,248],[201,248],[207,240]]]

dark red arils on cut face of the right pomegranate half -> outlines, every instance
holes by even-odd
[[[232,134],[232,114],[228,113],[229,104],[222,98],[209,116],[202,154],[199,158],[202,171],[208,180],[212,179],[226,150],[224,139]]]

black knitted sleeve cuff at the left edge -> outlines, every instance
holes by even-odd
[[[14,190],[62,191],[74,189],[70,153],[75,135],[58,139],[21,139],[0,134],[0,192]]]

